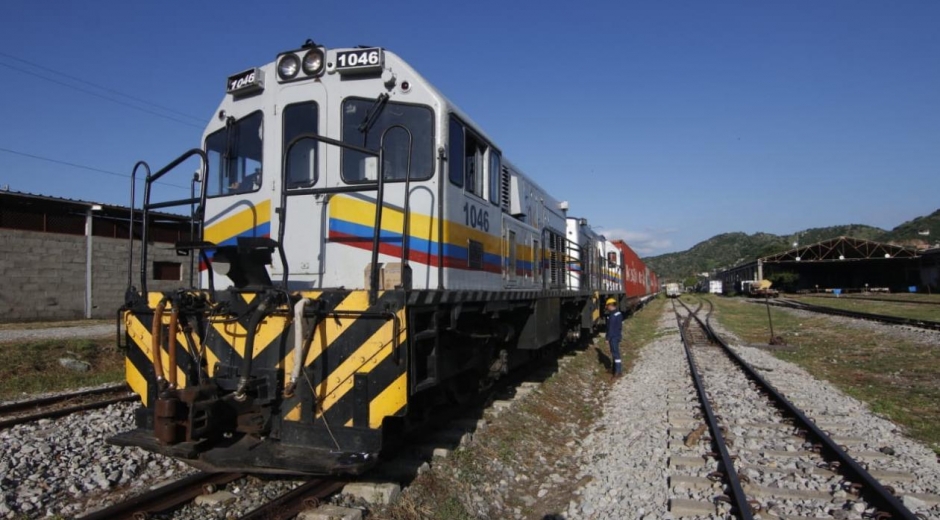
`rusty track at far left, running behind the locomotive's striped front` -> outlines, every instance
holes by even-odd
[[[104,408],[135,398],[136,396],[128,390],[127,385],[120,383],[92,390],[6,403],[0,405],[0,429],[40,419],[55,419],[76,412]]]

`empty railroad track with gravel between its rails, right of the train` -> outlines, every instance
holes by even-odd
[[[776,517],[787,518],[828,513],[832,501],[842,497],[834,495],[832,479],[841,477],[845,490],[840,491],[844,494],[842,498],[846,504],[861,509],[856,512],[867,512],[874,518],[918,518],[890,486],[873,477],[714,332],[709,323],[711,302],[704,320],[698,316],[702,304],[694,311],[682,301],[679,304],[685,314],[679,312],[675,303],[673,307],[700,415],[705,421],[705,427],[697,432],[701,436],[707,428],[713,448],[707,457],[717,461],[708,478],[721,482],[723,494],[719,500],[729,504],[731,514],[749,520],[766,508],[774,509],[767,511],[771,518],[774,513]],[[723,417],[722,413],[727,415]],[[730,417],[742,413],[750,422],[735,422]],[[693,445],[694,442],[687,442],[687,446]],[[783,450],[780,446],[791,449]],[[781,463],[782,460],[789,462]],[[791,466],[797,471],[788,473],[783,469]],[[803,482],[791,488],[762,485],[766,483],[766,474],[773,472],[784,475],[779,482],[792,475],[800,475]],[[698,485],[708,484],[706,481]]]

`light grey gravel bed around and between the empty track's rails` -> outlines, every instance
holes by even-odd
[[[940,498],[940,464],[930,449],[906,438],[897,425],[874,415],[864,403],[799,367],[758,349],[737,346],[735,350],[761,367],[765,378],[821,427],[844,441],[850,454],[870,471],[886,475],[878,478],[893,486],[913,512],[940,518],[940,504],[935,502]],[[730,362],[712,349],[698,349],[696,359],[716,413],[729,431],[731,451],[740,456],[739,474],[746,475],[752,486],[778,490],[777,495],[793,494],[759,497],[766,517],[774,517],[767,514],[769,510],[781,515],[861,519],[871,511],[845,489],[840,475],[819,467],[822,460],[806,450],[804,440],[794,436],[792,428],[780,424],[763,402],[757,402],[743,376],[733,376],[736,369]],[[585,438],[580,476],[589,482],[580,490],[580,501],[570,505],[569,518],[676,518],[680,515],[670,512],[670,507],[682,501],[714,504],[715,496],[722,493],[720,485],[709,487],[707,481],[695,480],[713,470],[714,461],[694,464],[696,457],[701,459],[702,445],[685,446],[680,435],[701,422],[692,403],[694,393],[690,394],[684,381],[689,377],[685,365],[670,310],[660,321],[658,339],[614,386],[604,416]],[[693,464],[674,464],[680,457],[688,457]],[[698,485],[683,484],[687,481]],[[749,496],[754,488],[750,489]],[[799,493],[817,496],[809,499]],[[719,504],[711,514],[720,517],[723,507]]]

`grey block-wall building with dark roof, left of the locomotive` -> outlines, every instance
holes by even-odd
[[[127,207],[0,191],[0,322],[112,318],[124,303],[128,269],[140,285],[140,214],[128,265]],[[188,285],[189,257],[173,245],[190,236],[188,217],[153,214],[148,286]]]

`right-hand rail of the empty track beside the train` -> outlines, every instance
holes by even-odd
[[[773,399],[779,409],[790,415],[797,422],[799,428],[803,429],[808,436],[818,442],[821,448],[820,454],[828,460],[838,461],[838,471],[842,473],[846,479],[860,483],[862,485],[860,493],[864,494],[865,500],[870,505],[879,508],[881,510],[880,512],[891,515],[890,518],[892,519],[917,520],[917,516],[905,507],[898,497],[888,491],[888,489],[878,482],[878,480],[863,468],[858,461],[846,453],[832,437],[816,426],[816,423],[813,422],[812,419],[807,417],[802,410],[797,408],[796,405],[790,402],[789,399],[764,379],[754,367],[731,349],[725,339],[718,335],[712,328],[711,314],[714,311],[714,305],[709,301],[708,306],[709,311],[708,315],[705,317],[705,321],[703,322],[698,316],[694,316],[695,320],[705,328],[712,340],[721,345],[721,348],[742,370],[744,370],[745,374]]]

